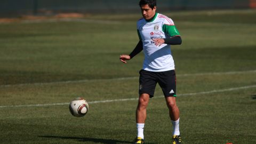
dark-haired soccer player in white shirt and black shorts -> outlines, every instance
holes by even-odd
[[[139,42],[129,54],[119,59],[123,63],[131,60],[143,50],[145,59],[139,78],[139,101],[136,110],[138,135],[133,143],[144,143],[143,128],[146,121],[146,108],[150,98],[154,97],[158,83],[164,93],[169,116],[173,125],[173,144],[181,143],[179,131],[180,112],[176,104],[176,77],[170,45],[181,44],[179,31],[172,19],[156,12],[156,0],[139,2],[143,18],[137,21]]]

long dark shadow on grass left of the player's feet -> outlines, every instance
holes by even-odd
[[[131,141],[122,141],[122,140],[113,140],[113,139],[97,139],[97,138],[83,138],[83,137],[61,137],[61,136],[54,136],[54,135],[38,135],[41,138],[52,138],[52,139],[73,139],[77,141],[87,141],[87,142],[94,142],[94,143],[106,143],[106,144],[119,144],[119,143],[132,143]]]

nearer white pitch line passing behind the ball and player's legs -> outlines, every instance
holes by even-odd
[[[222,90],[212,90],[212,91],[204,91],[204,92],[195,92],[195,93],[184,93],[179,94],[179,96],[187,96],[187,95],[198,95],[198,94],[210,94],[210,93],[218,93],[218,92],[227,92],[227,91],[237,91],[243,89],[250,89],[254,88],[256,85],[248,85],[248,86],[241,86],[241,87],[231,87],[229,89],[222,89]],[[154,98],[163,98],[164,96],[156,96]],[[127,99],[114,99],[114,100],[101,100],[101,101],[91,101],[88,102],[89,104],[92,103],[107,103],[107,102],[116,102],[116,101],[132,101],[138,100],[138,98],[127,98]],[[36,104],[36,105],[12,105],[12,106],[0,106],[0,108],[13,108],[13,107],[44,107],[44,106],[62,106],[62,105],[69,105],[69,102],[63,103],[46,103],[46,104]]]

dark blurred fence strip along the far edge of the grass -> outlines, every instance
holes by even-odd
[[[139,0],[1,0],[0,16],[22,14],[132,13],[139,12]],[[158,11],[256,8],[256,0],[158,0]]]

